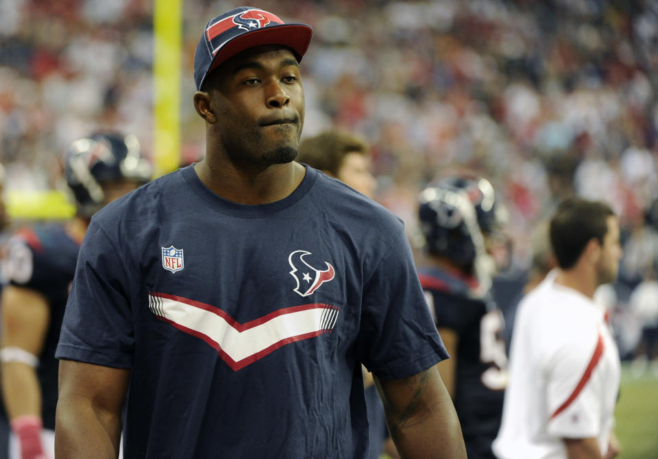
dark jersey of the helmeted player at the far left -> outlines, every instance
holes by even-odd
[[[48,303],[49,323],[36,372],[43,425],[55,430],[58,369],[55,349],[80,245],[62,225],[53,224],[20,229],[8,241],[7,250],[4,271],[8,282],[40,293]]]

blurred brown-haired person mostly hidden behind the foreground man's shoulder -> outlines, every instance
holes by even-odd
[[[339,179],[369,198],[374,197],[377,182],[371,173],[370,148],[353,134],[332,130],[304,138],[300,142],[297,161]],[[363,383],[370,430],[370,459],[378,459],[382,451],[398,458],[400,456],[386,427],[382,399],[377,393],[372,374],[365,367]]]

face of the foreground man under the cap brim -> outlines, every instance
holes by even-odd
[[[208,89],[217,139],[233,162],[283,164],[297,157],[304,125],[304,90],[295,55],[255,47],[224,62]]]

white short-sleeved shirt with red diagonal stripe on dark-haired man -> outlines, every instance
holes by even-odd
[[[500,459],[565,459],[561,438],[612,432],[620,359],[605,309],[555,283],[557,270],[521,301],[512,336],[509,386],[493,443]]]

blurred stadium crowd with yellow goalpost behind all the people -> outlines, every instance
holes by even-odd
[[[514,284],[561,197],[613,205],[624,259],[601,297],[626,362],[621,457],[658,458],[658,356],[647,346],[658,327],[658,1],[251,4],[313,25],[304,135],[343,127],[367,139],[377,199],[410,237],[422,186],[475,169],[509,210],[502,278]],[[0,162],[14,226],[71,213],[60,155],[96,127],[136,134],[159,174],[202,158],[193,53],[208,18],[237,5],[0,0]]]

